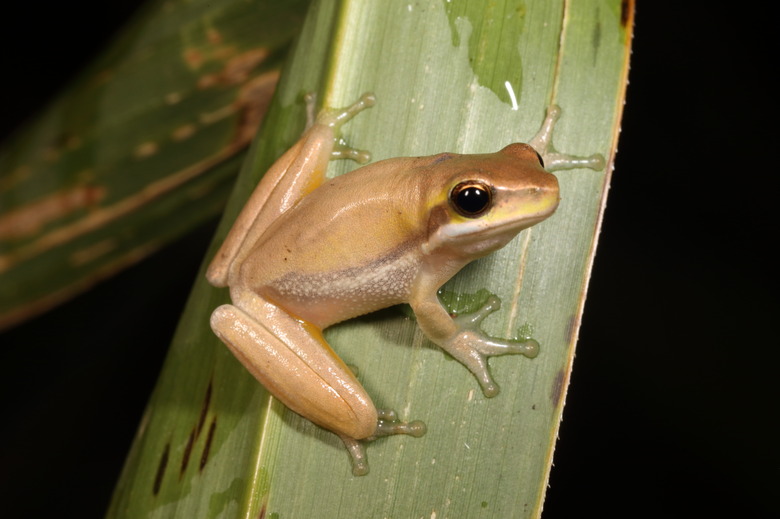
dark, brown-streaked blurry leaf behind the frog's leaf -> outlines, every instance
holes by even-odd
[[[308,3],[149,3],[3,143],[0,328],[220,214]]]

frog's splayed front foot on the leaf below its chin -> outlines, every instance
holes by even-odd
[[[487,397],[496,396],[500,390],[490,374],[488,357],[519,354],[532,359],[539,354],[539,343],[533,339],[496,339],[481,330],[480,325],[485,317],[500,307],[501,300],[491,296],[476,312],[454,317],[460,331],[441,345],[477,377]]]

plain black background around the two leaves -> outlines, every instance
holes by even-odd
[[[3,135],[136,4],[4,16]],[[544,516],[764,517],[780,479],[774,28],[640,4]],[[102,516],[214,225],[0,334],[3,515]]]

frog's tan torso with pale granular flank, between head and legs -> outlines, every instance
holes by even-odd
[[[243,286],[320,327],[407,301],[424,208],[416,182],[371,169],[328,180],[274,222],[242,263]]]

